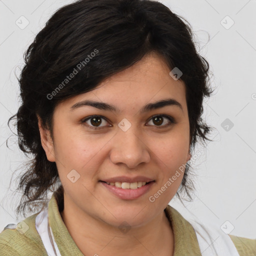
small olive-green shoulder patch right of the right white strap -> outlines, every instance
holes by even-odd
[[[256,256],[256,239],[228,234],[240,256]]]

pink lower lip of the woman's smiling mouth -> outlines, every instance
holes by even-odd
[[[152,184],[154,183],[154,181],[151,181],[141,187],[138,187],[136,189],[124,189],[124,188],[120,188],[120,187],[116,187],[116,186],[112,186],[112,185],[108,185],[107,183],[103,182],[103,181],[99,181],[104,187],[106,187],[110,192],[112,192],[113,194],[115,194],[116,196],[118,196],[121,199],[124,200],[133,200],[138,198],[139,196],[145,194],[150,187],[152,186]]]

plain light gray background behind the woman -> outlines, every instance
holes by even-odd
[[[20,193],[13,194],[15,185],[8,187],[12,172],[28,160],[19,151],[16,137],[7,126],[8,118],[19,106],[14,71],[19,76],[23,52],[46,20],[57,8],[70,2],[0,0],[0,231],[8,223],[21,220],[14,214]],[[197,48],[213,73],[212,86],[217,87],[215,95],[204,102],[203,116],[216,130],[210,136],[214,142],[209,142],[207,149],[198,146],[195,150],[202,156],[193,164],[198,174],[194,180],[194,200],[184,202],[186,208],[176,198],[169,204],[184,217],[190,211],[202,221],[217,223],[219,227],[228,220],[234,226],[231,234],[255,239],[256,1],[161,2],[192,25]],[[15,23],[16,20],[21,23],[22,15],[29,21],[23,29]],[[234,21],[229,28],[232,21],[227,15]],[[234,124],[228,130],[227,126],[222,127],[226,118]],[[6,147],[8,137],[9,148]]]

